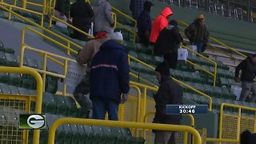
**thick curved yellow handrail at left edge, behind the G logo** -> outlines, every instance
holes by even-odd
[[[31,70],[29,68],[24,67],[9,67],[9,66],[0,66],[0,71],[2,73],[17,73],[17,74],[30,74],[34,76],[37,82],[37,97],[35,103],[35,114],[42,113],[42,78],[40,74],[36,70]],[[33,143],[38,144],[40,138],[40,130],[34,130]]]

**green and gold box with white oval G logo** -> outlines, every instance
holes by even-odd
[[[45,114],[20,114],[19,129],[45,129],[46,115]]]

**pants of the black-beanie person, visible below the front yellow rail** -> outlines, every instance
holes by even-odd
[[[177,133],[174,131],[157,130],[154,135],[154,144],[175,144]]]

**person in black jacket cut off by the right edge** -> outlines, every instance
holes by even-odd
[[[242,81],[242,91],[239,100],[246,101],[250,91],[253,92],[253,98],[248,98],[249,102],[254,102],[256,99],[256,83],[254,78],[256,76],[256,54],[251,57],[246,58],[235,69],[235,78],[236,82],[240,81],[239,71],[242,70],[241,81]]]

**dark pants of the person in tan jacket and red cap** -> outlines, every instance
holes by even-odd
[[[74,88],[74,99],[78,102],[78,104],[88,110],[92,108],[92,104],[89,98],[86,98],[86,94],[90,93],[90,82],[89,82],[89,75],[85,75],[81,82],[78,83],[78,86]]]

